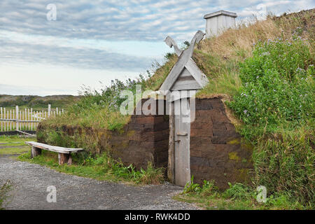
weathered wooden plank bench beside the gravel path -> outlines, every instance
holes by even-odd
[[[37,155],[41,155],[42,149],[58,153],[59,165],[63,165],[64,163],[71,165],[72,163],[71,153],[83,151],[83,148],[64,148],[59,146],[50,146],[36,141],[25,141],[25,144],[31,146],[31,158],[34,158]]]

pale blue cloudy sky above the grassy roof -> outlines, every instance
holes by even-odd
[[[217,10],[240,21],[314,6],[314,0],[1,0],[0,94],[78,94],[83,84],[98,89],[99,81],[134,78],[172,51],[166,36],[190,41],[204,31],[203,15]]]

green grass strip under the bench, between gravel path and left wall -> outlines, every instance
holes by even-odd
[[[96,157],[85,153],[73,154],[72,165],[59,165],[58,154],[42,151],[41,155],[31,159],[31,153],[18,156],[18,160],[36,163],[58,172],[83,176],[99,181],[122,181],[130,184],[160,184],[164,182],[164,169],[155,169],[149,163],[147,169],[136,171],[132,165],[125,167],[121,162],[103,154]]]

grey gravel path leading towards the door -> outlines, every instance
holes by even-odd
[[[170,183],[138,187],[97,181],[0,155],[0,181],[7,179],[15,187],[6,209],[197,209],[172,200],[183,188]],[[46,201],[48,186],[57,189],[55,203]]]

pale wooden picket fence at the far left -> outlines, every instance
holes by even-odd
[[[10,132],[15,130],[36,130],[38,123],[50,116],[58,116],[64,113],[64,109],[51,111],[50,104],[47,111],[34,111],[33,109],[19,110],[19,106],[15,106],[15,110],[8,110],[0,107],[0,132]]]

